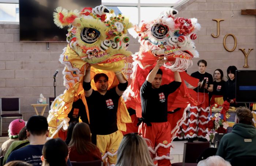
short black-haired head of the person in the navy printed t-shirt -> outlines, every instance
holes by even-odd
[[[45,135],[48,131],[47,119],[41,115],[31,116],[27,121],[26,129],[32,135]]]

